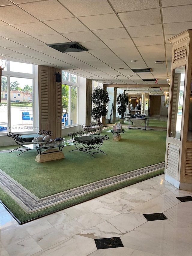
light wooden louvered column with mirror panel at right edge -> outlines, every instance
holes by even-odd
[[[183,190],[192,189],[192,88],[191,30],[169,40],[173,46],[170,100],[167,124],[165,179]],[[184,84],[181,74],[184,73]],[[182,114],[178,113],[180,86],[183,86]]]

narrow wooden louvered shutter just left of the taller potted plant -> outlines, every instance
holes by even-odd
[[[92,80],[86,81],[86,125],[91,124],[91,107],[92,107]]]

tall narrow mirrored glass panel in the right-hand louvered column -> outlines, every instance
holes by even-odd
[[[183,110],[185,66],[176,68],[173,76],[170,137],[180,139]]]

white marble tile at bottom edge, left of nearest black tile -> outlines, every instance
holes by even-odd
[[[33,256],[86,256],[97,250],[94,239],[75,235]]]

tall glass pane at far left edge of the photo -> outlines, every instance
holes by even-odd
[[[1,77],[0,134],[8,132],[7,122],[7,77]]]

